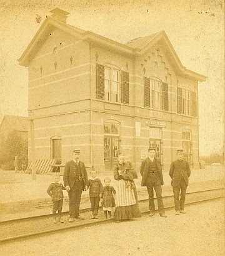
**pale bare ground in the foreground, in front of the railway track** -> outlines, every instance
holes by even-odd
[[[186,212],[18,240],[2,244],[0,255],[225,255],[224,200],[188,205]]]

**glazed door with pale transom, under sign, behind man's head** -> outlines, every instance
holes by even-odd
[[[149,147],[154,147],[156,149],[156,157],[161,158],[161,128],[149,127]]]

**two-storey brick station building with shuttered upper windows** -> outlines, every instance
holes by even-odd
[[[119,152],[139,168],[154,146],[168,168],[183,147],[199,167],[197,91],[206,77],[182,65],[165,31],[122,44],[51,13],[18,60],[29,68],[37,159],[65,163],[79,148],[98,170],[113,168]]]

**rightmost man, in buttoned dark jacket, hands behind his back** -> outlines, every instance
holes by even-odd
[[[173,186],[175,211],[179,215],[179,213],[186,213],[184,211],[184,202],[191,170],[187,161],[184,160],[183,149],[177,150],[177,156],[178,159],[171,164],[169,176],[172,178],[171,186]],[[180,192],[181,200],[179,200]]]

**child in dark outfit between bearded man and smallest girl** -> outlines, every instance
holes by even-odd
[[[92,216],[91,218],[98,219],[98,210],[99,210],[99,201],[100,201],[100,194],[103,190],[103,184],[99,178],[96,178],[97,171],[95,169],[91,170],[91,178],[88,179],[88,186],[89,186],[89,197],[91,201],[91,211]]]

